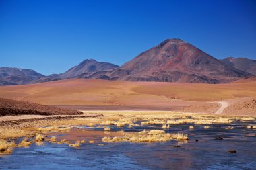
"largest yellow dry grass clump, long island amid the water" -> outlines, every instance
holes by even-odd
[[[187,140],[186,134],[169,134],[164,130],[143,130],[141,132],[126,133],[123,136],[104,137],[103,142],[168,142],[170,140]]]

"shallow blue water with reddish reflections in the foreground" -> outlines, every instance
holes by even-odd
[[[256,130],[246,129],[247,124],[255,125],[255,122],[216,124],[209,129],[204,129],[203,125],[172,125],[166,132],[189,134],[189,140],[139,144],[103,143],[103,136],[116,136],[119,132],[104,134],[102,128],[79,126],[65,134],[51,135],[58,140],[85,139],[80,149],[49,142],[44,142],[44,146],[33,144],[29,148],[15,148],[11,155],[0,157],[0,169],[255,169]],[[189,126],[195,129],[189,130]],[[226,130],[226,126],[234,126],[234,129]],[[111,128],[138,132],[161,129],[161,125]],[[224,140],[215,140],[218,136]],[[95,143],[90,144],[89,140]],[[174,148],[176,144],[181,148]],[[228,153],[232,149],[237,153]]]

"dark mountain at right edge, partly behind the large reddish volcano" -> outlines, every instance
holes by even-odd
[[[252,75],[256,75],[256,60],[250,60],[248,58],[228,57],[220,61],[230,67],[234,67],[241,71],[245,71],[247,73],[251,73]]]

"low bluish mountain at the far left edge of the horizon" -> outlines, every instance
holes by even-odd
[[[22,85],[44,77],[30,69],[0,67],[0,85]]]

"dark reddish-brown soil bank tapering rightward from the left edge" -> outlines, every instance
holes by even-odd
[[[0,98],[0,116],[13,115],[77,115],[83,114],[77,110],[57,108],[48,105],[30,103],[26,101],[15,101]]]

